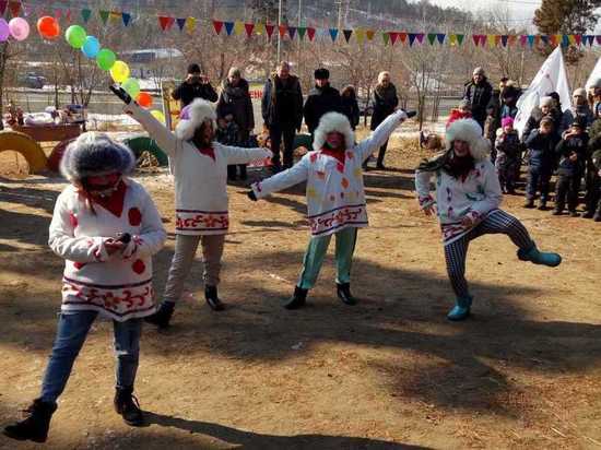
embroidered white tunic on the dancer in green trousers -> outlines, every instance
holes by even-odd
[[[307,181],[307,210],[313,236],[367,226],[363,162],[390,137],[404,118],[389,116],[369,138],[344,152],[343,162],[327,151],[307,153],[292,168],[252,185],[258,199]]]

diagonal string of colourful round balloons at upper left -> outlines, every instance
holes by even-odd
[[[20,17],[11,20],[7,26],[10,26],[10,24],[16,19]],[[2,21],[3,19],[0,19],[0,42],[3,40]],[[27,26],[27,34],[28,29],[30,28]],[[58,21],[49,15],[40,17],[37,21],[37,31],[45,39],[55,39],[60,36],[60,25]],[[13,36],[17,38],[14,33]],[[95,59],[98,68],[105,72],[109,72],[113,81],[119,83],[123,91],[126,91],[131,98],[135,99],[140,106],[145,108],[150,108],[152,106],[152,96],[149,93],[140,92],[140,82],[137,79],[130,78],[129,66],[123,61],[117,60],[117,55],[115,55],[113,50],[102,48],[101,42],[96,37],[89,36],[85,29],[80,25],[71,25],[64,31],[64,38],[71,47],[80,49],[85,57]],[[155,112],[162,115],[158,110],[152,111],[155,117]],[[164,117],[162,121],[165,121]]]

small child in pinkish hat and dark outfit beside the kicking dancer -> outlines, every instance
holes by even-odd
[[[516,174],[521,163],[521,142],[517,130],[514,129],[514,119],[505,117],[500,121],[502,128],[497,131],[495,141],[497,152],[495,167],[503,193],[516,193]]]

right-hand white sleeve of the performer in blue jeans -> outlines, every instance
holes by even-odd
[[[152,198],[145,190],[140,190],[142,191],[142,227],[140,235],[132,236],[128,246],[123,249],[122,256],[125,259],[133,256],[140,258],[151,257],[163,248],[167,239],[167,233],[163,227],[161,215],[156,211]]]

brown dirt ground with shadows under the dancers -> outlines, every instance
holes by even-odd
[[[221,295],[211,312],[201,263],[166,332],[144,329],[137,394],[149,426],[113,411],[111,324],[98,321],[47,442],[52,449],[593,449],[601,447],[601,224],[521,209],[554,270],[518,261],[503,236],[474,241],[473,318],[452,304],[436,223],[415,204],[415,147],[365,175],[370,225],[353,265],[360,305],[335,297],[327,259],[309,305],[292,293],[308,240],[302,187],[252,203],[229,187]],[[251,178],[260,174],[252,173]],[[156,257],[160,298],[174,248],[173,183],[138,179],[169,230]],[[0,425],[38,393],[60,305],[62,261],[47,247],[59,178],[0,179]],[[332,249],[333,250],[333,246]],[[0,437],[0,448],[34,448]]]

